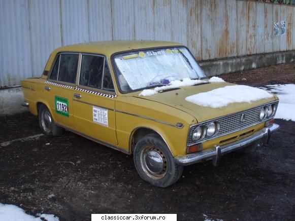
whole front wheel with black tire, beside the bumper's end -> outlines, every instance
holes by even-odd
[[[183,166],[174,162],[167,144],[156,134],[148,134],[137,142],[134,163],[143,180],[161,188],[173,185],[183,171]]]

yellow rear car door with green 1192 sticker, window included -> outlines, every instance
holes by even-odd
[[[56,123],[74,129],[73,94],[79,53],[60,53],[45,82],[45,96]]]

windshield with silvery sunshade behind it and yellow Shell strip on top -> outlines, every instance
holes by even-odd
[[[169,85],[175,80],[207,78],[184,47],[128,52],[114,56],[122,92]]]

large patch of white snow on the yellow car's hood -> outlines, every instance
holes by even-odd
[[[212,91],[194,94],[185,98],[186,101],[213,108],[227,106],[230,103],[241,103],[271,98],[273,95],[265,90],[245,85],[225,86]]]

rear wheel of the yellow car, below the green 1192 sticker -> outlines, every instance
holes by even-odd
[[[52,115],[49,109],[41,104],[39,108],[39,126],[43,133],[47,135],[60,136],[63,133],[63,129],[54,123]]]

